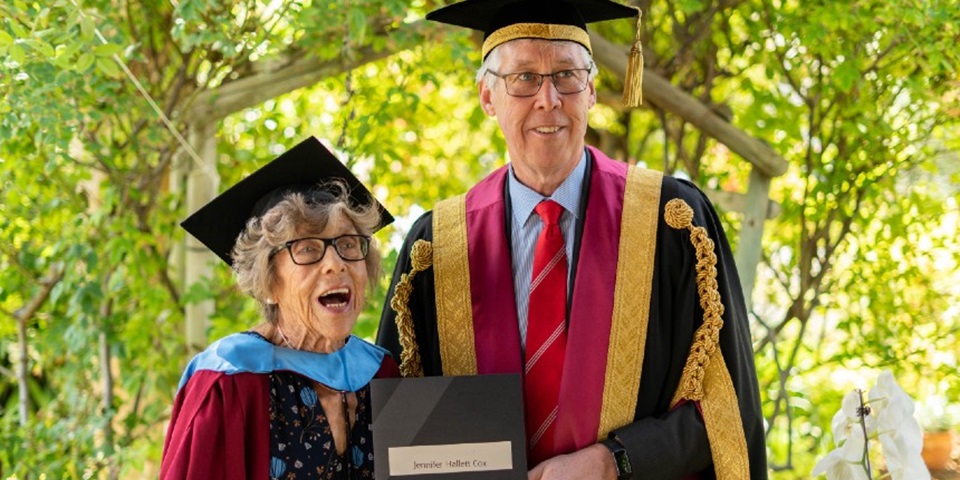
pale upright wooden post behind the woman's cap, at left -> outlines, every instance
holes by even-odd
[[[190,162],[187,174],[187,211],[189,215],[212,200],[220,188],[220,175],[217,174],[217,142],[214,138],[216,122],[197,121],[190,127],[190,144],[199,154]],[[184,261],[184,286],[190,288],[196,282],[211,276],[211,267],[217,258],[192,235],[185,236],[186,254]],[[190,354],[199,352],[207,346],[207,324],[213,315],[213,300],[191,303],[186,307],[186,341]]]

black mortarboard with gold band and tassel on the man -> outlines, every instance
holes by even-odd
[[[568,40],[590,53],[587,24],[637,17],[637,39],[630,50],[624,103],[643,103],[643,55],[640,46],[640,9],[611,0],[464,0],[427,14],[427,20],[483,32],[482,56],[497,45],[520,38]]]

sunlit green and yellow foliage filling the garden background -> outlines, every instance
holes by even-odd
[[[221,185],[322,138],[398,214],[378,234],[388,271],[420,212],[502,165],[476,100],[477,39],[425,25],[439,3],[0,4],[0,475],[155,476],[188,360],[185,307],[214,301],[210,338],[258,321],[226,268],[184,282],[191,125],[213,126]],[[911,394],[958,398],[960,12],[946,0],[635,3],[647,68],[790,163],[773,180],[780,214],[752,312],[779,475],[807,476],[829,448],[847,372],[889,368]],[[634,28],[596,31],[626,46]],[[272,87],[249,82],[307,67],[322,78],[245,103]],[[745,189],[746,162],[657,105],[622,109],[620,88],[601,69],[591,143]],[[214,111],[227,97],[242,107]],[[722,213],[736,246],[740,217]]]

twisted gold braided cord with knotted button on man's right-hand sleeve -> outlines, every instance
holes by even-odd
[[[717,289],[717,256],[713,253],[713,240],[707,230],[693,225],[693,209],[686,202],[679,198],[667,202],[664,220],[672,228],[690,230],[690,241],[697,251],[697,293],[703,308],[703,325],[694,335],[673,403],[681,399],[700,401],[703,400],[703,377],[710,356],[717,349],[723,327],[723,302]]]

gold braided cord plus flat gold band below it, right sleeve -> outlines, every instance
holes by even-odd
[[[693,225],[693,209],[683,200],[675,198],[667,202],[664,219],[672,228],[690,231],[690,241],[697,252],[697,294],[703,308],[703,324],[694,335],[671,406],[675,407],[681,400],[699,402],[717,478],[749,478],[750,462],[740,405],[720,352],[723,302],[717,287],[713,240],[705,228]]]

